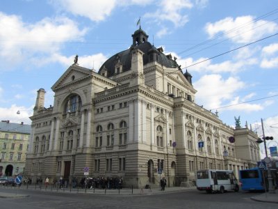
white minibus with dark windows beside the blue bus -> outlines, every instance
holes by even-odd
[[[228,190],[238,192],[238,180],[234,176],[234,171],[227,170],[201,170],[197,171],[197,189],[200,191],[224,193]]]

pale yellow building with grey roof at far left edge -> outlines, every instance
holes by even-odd
[[[31,125],[0,122],[0,176],[24,173]]]

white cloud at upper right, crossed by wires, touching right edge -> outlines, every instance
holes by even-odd
[[[236,19],[226,17],[215,23],[208,22],[205,30],[210,38],[214,38],[220,33],[224,37],[240,43],[252,42],[278,31],[278,25],[275,22],[254,20],[255,18],[252,16],[236,17]]]

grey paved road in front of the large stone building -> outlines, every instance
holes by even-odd
[[[34,208],[277,208],[275,203],[252,201],[249,192],[227,192],[224,194],[206,194],[195,189],[170,193],[108,195],[74,194],[69,192],[50,192],[33,189],[5,189],[0,192],[12,193],[13,198],[0,199],[1,209]],[[22,194],[28,195],[20,197]]]

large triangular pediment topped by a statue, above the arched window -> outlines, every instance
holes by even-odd
[[[70,68],[68,68],[58,79],[58,81],[51,87],[51,89],[54,91],[56,88],[74,84],[90,75],[92,75],[92,70],[88,68],[82,68],[79,65],[71,65]]]

